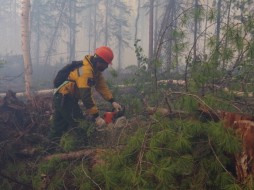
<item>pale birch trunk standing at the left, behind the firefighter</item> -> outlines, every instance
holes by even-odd
[[[28,99],[31,99],[32,65],[30,54],[30,0],[21,2],[21,44],[25,73],[25,92]]]

